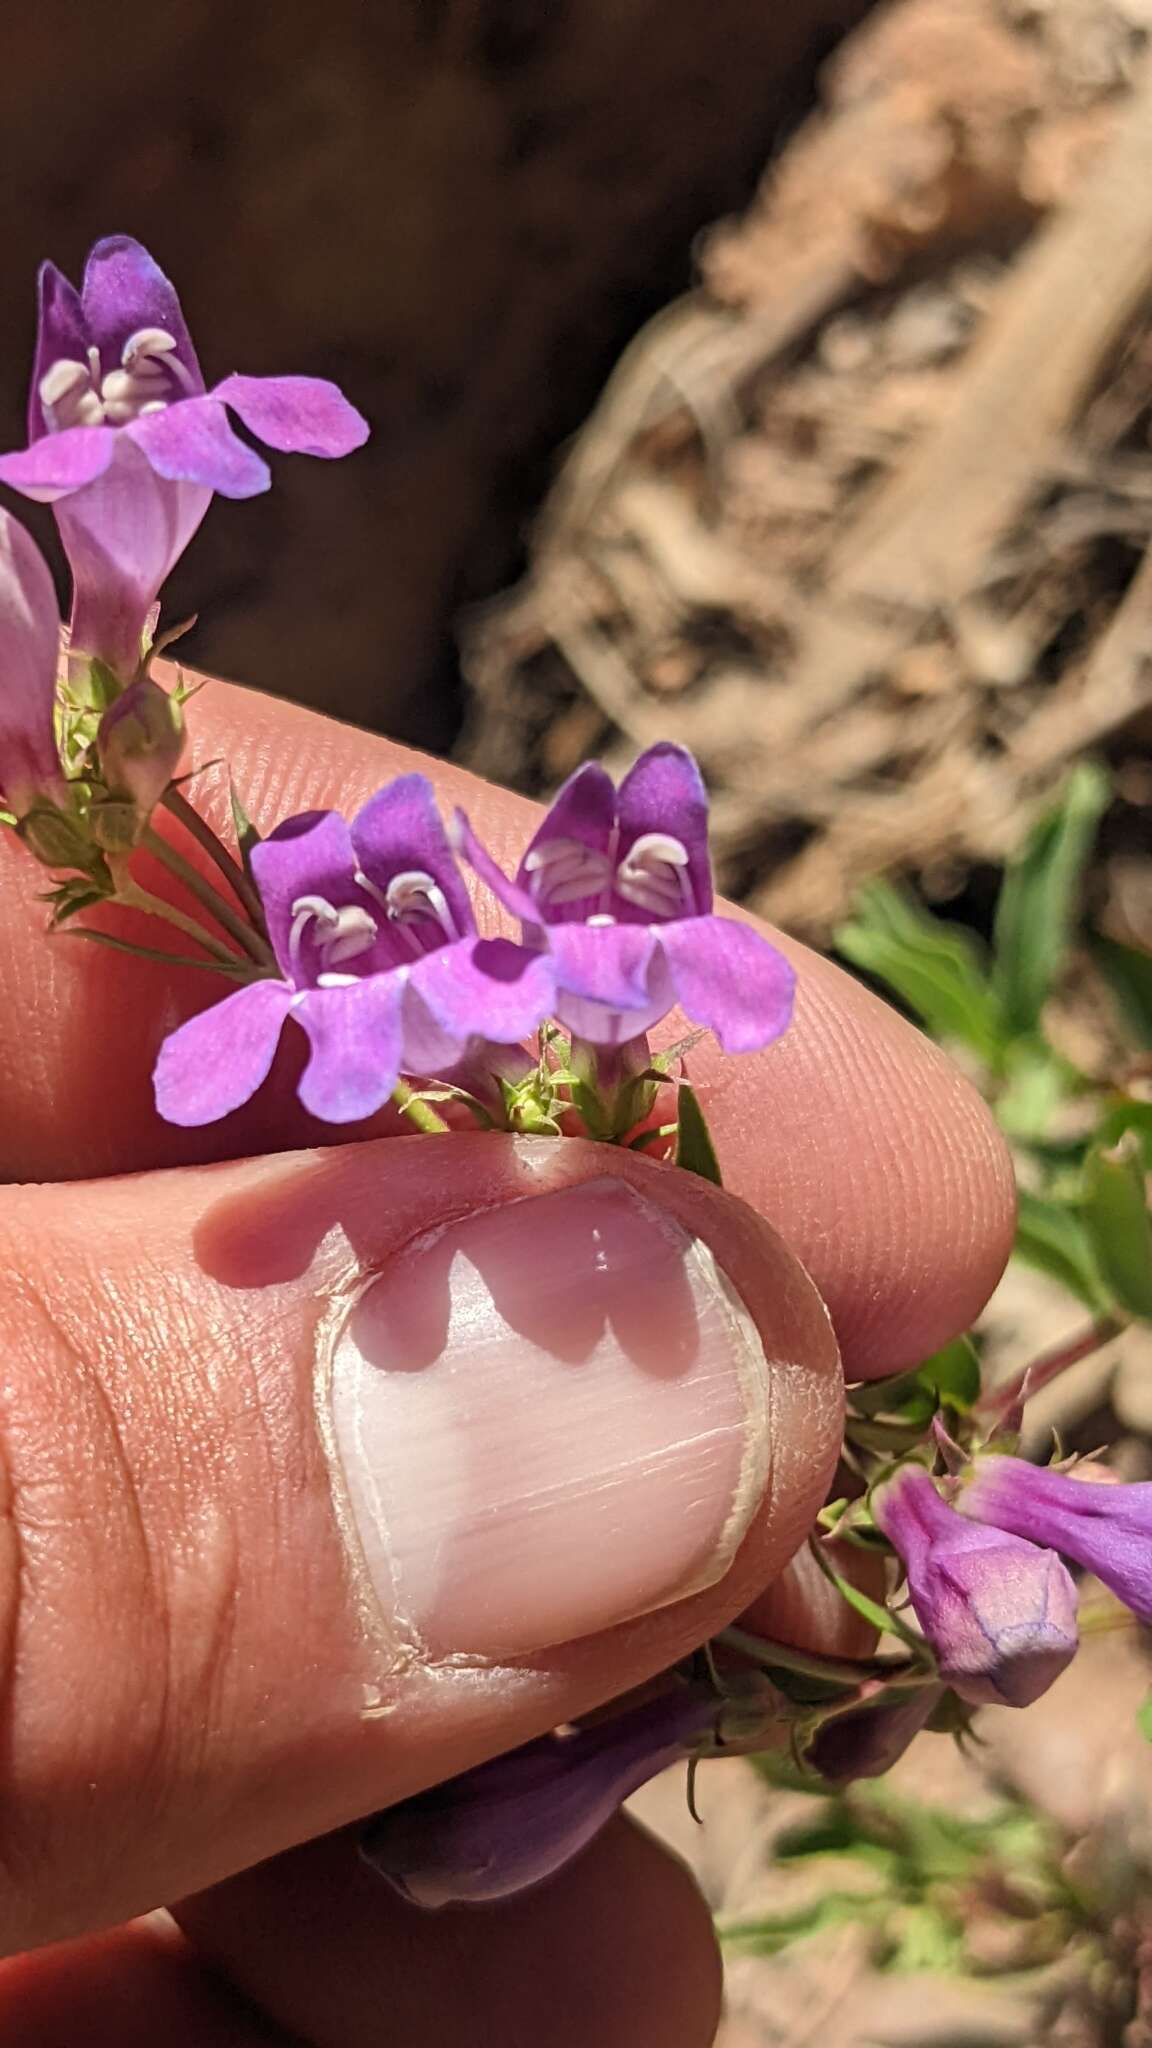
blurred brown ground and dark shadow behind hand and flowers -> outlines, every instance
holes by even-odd
[[[908,993],[939,926],[902,987],[861,889],[980,961],[1091,756],[1097,950],[1060,911],[1043,1061],[968,1063],[1035,1186],[1072,1073],[1121,1075],[1152,1163],[1150,35],[1152,0],[41,0],[0,66],[0,444],[37,262],[139,236],[209,377],[330,375],[373,424],[213,510],[189,659],[531,795],[683,739],[730,893],[949,1042]],[[1082,1313],[1015,1264],[984,1358]],[[1152,1477],[1148,1329],[1037,1409],[1035,1454]],[[1146,1688],[1105,1628],[879,1804],[746,1763],[701,1774],[703,1831],[644,1794],[734,1929],[726,2048],[1152,2042]]]

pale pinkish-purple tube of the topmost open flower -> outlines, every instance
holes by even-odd
[[[80,428],[92,438],[100,428]],[[129,680],[152,606],[203,520],[211,492],[158,477],[129,434],[109,430],[113,463],[55,508],[72,569],[72,645]],[[64,440],[53,434],[51,440]],[[51,440],[37,442],[39,449]]]

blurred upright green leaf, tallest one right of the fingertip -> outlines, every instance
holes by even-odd
[[[992,987],[1011,1034],[1035,1032],[1076,920],[1080,879],[1109,801],[1109,778],[1080,762],[1060,801],[1009,860],[992,934]]]

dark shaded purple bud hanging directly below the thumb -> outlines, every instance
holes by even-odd
[[[361,1853],[414,1905],[508,1898],[572,1862],[719,1708],[711,1688],[685,1686],[574,1735],[525,1743],[377,1815]]]

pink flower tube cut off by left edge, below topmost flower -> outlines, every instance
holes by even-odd
[[[23,817],[37,797],[61,797],[55,752],[59,610],[49,567],[0,510],[0,791]]]

